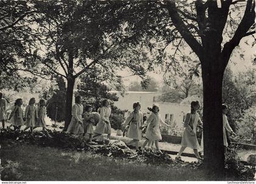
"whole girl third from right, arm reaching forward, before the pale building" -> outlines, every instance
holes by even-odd
[[[159,149],[158,141],[162,140],[162,135],[160,133],[160,124],[162,126],[171,127],[161,119],[159,115],[159,107],[157,105],[153,105],[152,108],[148,108],[148,110],[152,111],[151,115],[147,119],[147,130],[146,130],[146,141],[144,141],[141,150],[144,150],[144,147],[148,144],[149,141],[155,142],[155,147],[157,147],[157,152],[162,154],[162,151]]]

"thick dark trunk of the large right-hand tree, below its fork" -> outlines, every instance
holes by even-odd
[[[216,180],[222,180],[225,174],[221,108],[224,71],[216,66],[218,62],[213,61],[211,59],[211,61],[207,62],[208,66],[202,66],[204,88],[204,164],[208,171],[212,171],[212,174],[216,175]]]

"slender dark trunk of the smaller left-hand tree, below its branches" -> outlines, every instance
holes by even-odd
[[[68,129],[68,125],[71,121],[72,115],[72,101],[73,101],[73,90],[74,90],[75,79],[68,77],[68,87],[66,89],[66,116],[65,116],[65,127],[63,131]]]

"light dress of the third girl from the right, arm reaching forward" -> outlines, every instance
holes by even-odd
[[[160,133],[160,124],[165,126],[165,122],[161,119],[161,116],[158,113],[151,113],[147,119],[147,130],[146,138],[149,141],[162,140],[162,135]]]

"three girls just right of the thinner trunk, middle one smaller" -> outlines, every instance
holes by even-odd
[[[72,119],[68,126],[68,133],[77,136],[80,141],[84,140],[84,136],[87,133],[89,135],[89,141],[91,142],[96,136],[107,134],[107,139],[110,138],[111,125],[109,117],[111,114],[110,103],[107,99],[102,101],[102,107],[98,112],[92,112],[93,107],[91,105],[82,105],[81,96],[75,97],[75,104],[72,108]],[[93,130],[93,124],[97,124],[95,130]],[[94,134],[94,135],[93,135]]]

